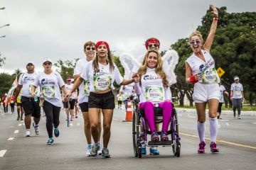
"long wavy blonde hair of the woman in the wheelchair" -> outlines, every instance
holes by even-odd
[[[138,71],[139,77],[142,77],[142,75],[146,74],[146,68],[147,68],[146,60],[149,57],[150,52],[155,52],[157,55],[156,74],[158,74],[161,77],[161,79],[163,79],[164,87],[169,87],[169,82],[167,80],[167,76],[163,70],[163,61],[161,60],[161,55],[156,50],[149,50],[148,52],[146,52],[146,55],[144,56],[144,59],[142,62],[142,67],[140,67],[139,71]],[[140,81],[139,84],[142,85],[142,81]]]

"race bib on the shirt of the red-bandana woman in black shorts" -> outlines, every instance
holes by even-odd
[[[112,83],[111,74],[95,75],[93,80],[95,91],[105,91],[110,89]]]

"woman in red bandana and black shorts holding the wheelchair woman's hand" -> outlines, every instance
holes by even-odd
[[[78,88],[82,81],[89,81],[90,94],[88,98],[89,120],[91,125],[92,138],[95,144],[92,146],[91,156],[97,156],[97,150],[100,149],[98,124],[100,118],[100,110],[103,115],[103,149],[102,157],[109,158],[110,153],[107,145],[110,141],[110,128],[114,111],[114,81],[120,85],[127,85],[134,82],[133,79],[123,79],[116,64],[112,60],[110,47],[105,41],[99,41],[95,45],[97,55],[95,60],[87,63],[80,77],[75,81],[70,94]]]

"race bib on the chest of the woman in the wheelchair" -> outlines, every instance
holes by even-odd
[[[163,87],[146,86],[146,101],[164,101]]]

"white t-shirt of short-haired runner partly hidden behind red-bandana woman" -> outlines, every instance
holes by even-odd
[[[85,66],[87,65],[88,61],[86,59],[80,59],[78,60],[77,64],[75,65],[74,69],[74,76],[80,75],[82,73],[82,70],[85,69]],[[90,81],[84,80],[82,84],[79,86],[79,94],[78,94],[78,103],[88,102],[88,96],[89,96],[89,87],[90,87]],[[86,90],[85,90],[86,89]]]

